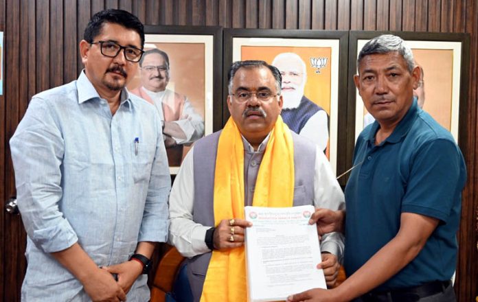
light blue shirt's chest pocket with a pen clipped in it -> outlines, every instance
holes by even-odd
[[[156,146],[150,143],[133,143],[131,164],[135,183],[149,183],[155,150]]]

